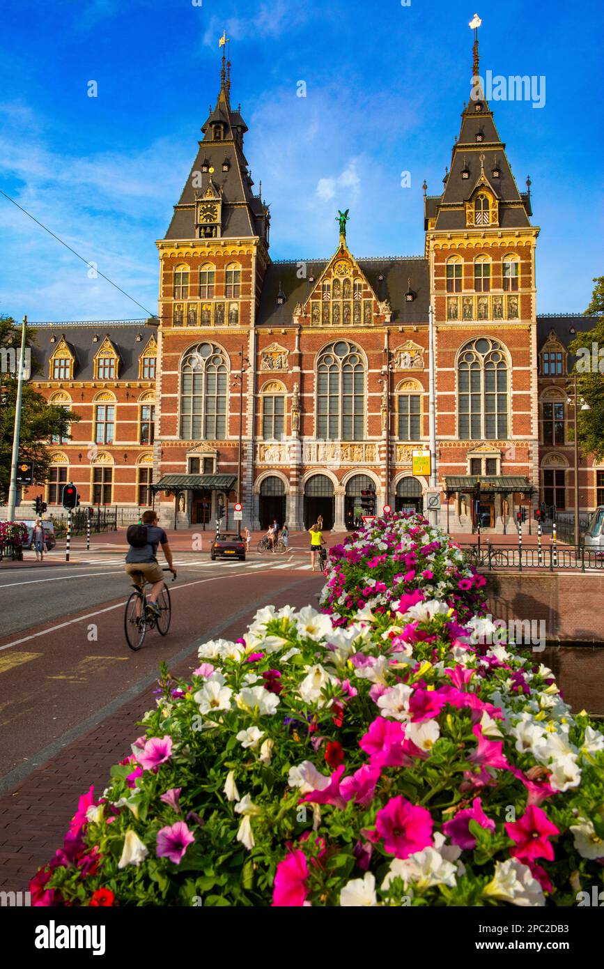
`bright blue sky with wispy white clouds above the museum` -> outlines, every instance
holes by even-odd
[[[271,204],[273,259],[330,255],[338,208],[350,209],[357,256],[415,255],[422,182],[440,191],[468,99],[475,9],[481,69],[546,78],[543,108],[492,105],[521,190],[532,180],[538,312],[585,309],[604,272],[599,0],[196,3],[3,3],[0,188],[147,310],[157,311],[155,239],[218,93],[224,27],[231,102],[241,102],[246,156]],[[0,312],[144,315],[2,197]]]

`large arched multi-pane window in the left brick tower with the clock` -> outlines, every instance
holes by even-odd
[[[228,362],[214,343],[198,343],[180,367],[180,436],[192,440],[227,434]]]

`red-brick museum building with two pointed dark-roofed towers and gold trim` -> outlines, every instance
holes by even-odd
[[[256,528],[321,515],[340,530],[384,505],[424,508],[413,454],[430,442],[431,305],[440,524],[475,525],[478,477],[483,527],[511,529],[521,507],[572,509],[567,347],[592,321],[536,314],[530,181],[520,191],[489,104],[464,108],[442,191],[424,183],[417,257],[357,258],[345,212],[329,258],[273,261],[247,130],[223,58],[157,242],[157,319],[36,325],[36,386],[81,417],[52,444],[49,511],[68,481],[82,505],[154,505],[179,528],[213,527],[226,507],[230,524],[239,496]],[[604,502],[590,458],[579,500]]]

